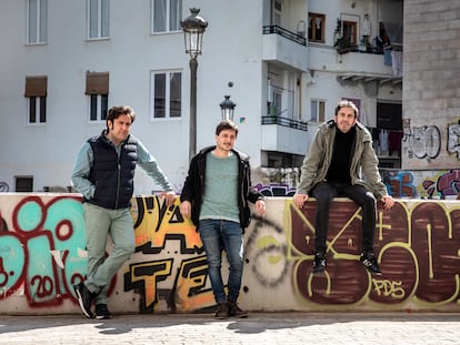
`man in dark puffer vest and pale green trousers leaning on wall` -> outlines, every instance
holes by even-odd
[[[73,166],[73,187],[83,195],[88,250],[87,280],[73,290],[81,311],[89,318],[110,318],[107,290],[113,275],[136,250],[130,201],[137,164],[163,189],[161,195],[168,206],[176,199],[157,160],[130,134],[134,119],[136,113],[130,106],[111,108],[107,129],[80,148]],[[113,251],[106,257],[109,236]]]

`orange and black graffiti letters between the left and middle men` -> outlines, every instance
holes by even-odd
[[[212,291],[207,284],[206,257],[194,226],[182,217],[177,203],[167,207],[158,196],[134,200],[131,214],[137,252],[161,254],[154,255],[157,260],[131,261],[124,273],[124,291],[132,290],[139,294],[139,311],[152,313],[160,297],[173,311],[178,304],[179,308],[186,311],[212,305]],[[179,243],[179,252],[166,251],[171,241]],[[160,282],[164,281],[170,283],[169,286],[158,288]]]

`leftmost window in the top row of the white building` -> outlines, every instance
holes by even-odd
[[[46,43],[48,40],[48,0],[27,1],[27,42]]]

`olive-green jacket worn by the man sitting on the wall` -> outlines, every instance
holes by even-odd
[[[377,200],[380,200],[383,195],[388,195],[388,191],[380,176],[379,160],[372,148],[372,135],[358,121],[356,129],[357,135],[350,165],[351,184],[363,185]],[[303,160],[300,184],[297,187],[298,194],[308,194],[318,182],[326,180],[332,160],[336,131],[333,120],[321,124],[318,129],[314,141]]]

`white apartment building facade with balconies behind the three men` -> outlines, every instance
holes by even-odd
[[[300,166],[341,99],[357,102],[376,135],[400,132],[402,1],[1,0],[0,191],[70,190],[80,145],[104,129],[107,109],[124,104],[137,113],[132,133],[180,192],[191,89],[180,21],[190,8],[209,23],[197,151],[214,143],[224,95],[237,103],[237,149],[259,171]],[[398,148],[377,149],[400,166]],[[259,182],[269,179],[253,174]],[[136,194],[157,189],[139,170]]]

